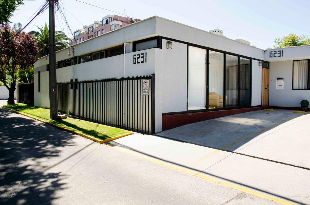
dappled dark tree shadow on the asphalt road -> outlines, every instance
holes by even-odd
[[[67,176],[43,164],[59,156],[60,147],[75,145],[72,134],[0,112],[0,204],[52,204]]]

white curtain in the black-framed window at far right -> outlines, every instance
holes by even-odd
[[[308,60],[294,61],[293,89],[307,89]]]

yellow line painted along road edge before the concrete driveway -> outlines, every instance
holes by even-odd
[[[260,197],[260,198],[264,198],[264,199],[267,199],[267,200],[270,200],[270,201],[274,201],[274,202],[277,202],[277,203],[281,203],[281,204],[285,204],[285,205],[295,205],[296,204],[296,203],[290,202],[290,201],[288,201],[286,199],[281,199],[280,197],[275,197],[272,194],[265,194],[265,193],[263,193],[261,191],[257,191],[257,190],[251,189],[251,188],[246,188],[245,186],[237,185],[237,184],[234,184],[234,183],[231,183],[231,182],[227,182],[227,181],[219,179],[217,177],[210,176],[207,173],[201,173],[201,172],[198,172],[198,171],[193,170],[193,169],[185,168],[185,167],[182,167],[182,166],[174,165],[174,164],[169,163],[169,162],[165,162],[165,161],[162,161],[162,160],[155,159],[155,158],[153,158],[151,156],[145,156],[143,154],[136,153],[135,151],[126,150],[125,148],[122,148],[122,147],[117,147],[117,145],[113,145],[113,144],[106,144],[106,145],[108,147],[112,147],[114,149],[117,149],[117,150],[119,150],[121,152],[125,152],[125,153],[128,153],[128,154],[134,155],[136,157],[139,157],[139,158],[142,158],[142,159],[145,159],[145,160],[149,160],[149,161],[151,161],[153,163],[160,164],[160,165],[168,167],[170,169],[175,169],[175,170],[178,170],[178,171],[181,171],[181,172],[184,172],[184,173],[196,176],[196,177],[200,177],[200,178],[202,178],[204,180],[216,183],[216,184],[221,185],[221,186],[226,186],[226,187],[229,187],[229,188],[232,188],[232,189],[235,189],[235,190],[239,190],[239,191],[245,192],[247,194],[251,194],[251,195],[254,195],[254,196],[257,196],[257,197]]]

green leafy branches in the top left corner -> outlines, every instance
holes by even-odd
[[[9,19],[23,0],[0,0],[0,24],[11,23]]]

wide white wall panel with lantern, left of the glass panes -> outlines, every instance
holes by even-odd
[[[167,40],[162,40],[166,45]],[[172,41],[173,49],[162,49],[162,112],[187,108],[187,45]]]

